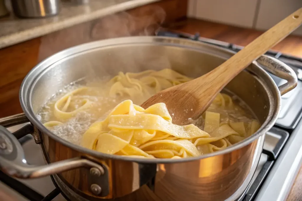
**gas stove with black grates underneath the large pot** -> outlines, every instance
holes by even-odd
[[[165,30],[157,32],[158,36],[180,37],[208,43],[238,52],[243,47],[200,37],[198,34],[180,34]],[[280,52],[268,51],[273,56],[288,64],[297,74],[298,85],[291,92],[282,96],[281,111],[275,126],[265,135],[265,143],[259,163],[255,163],[244,193],[236,201],[285,200],[290,192],[294,179],[299,171],[302,159],[302,58],[284,55]],[[285,80],[271,74],[278,86]],[[11,132],[24,125],[9,128]],[[35,144],[31,135],[19,139],[24,148],[29,164],[44,164],[40,146]],[[54,177],[21,180],[13,179],[0,171],[0,188],[5,189],[16,200],[25,201],[65,201],[67,197],[61,193],[54,182]]]

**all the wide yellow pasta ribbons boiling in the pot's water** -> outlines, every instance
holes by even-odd
[[[178,159],[224,149],[255,133],[259,122],[225,93],[192,124],[173,124],[164,103],[139,106],[191,78],[171,69],[122,73],[102,87],[78,87],[49,102],[44,126],[88,149],[129,157]],[[113,109],[112,109],[113,108]]]

